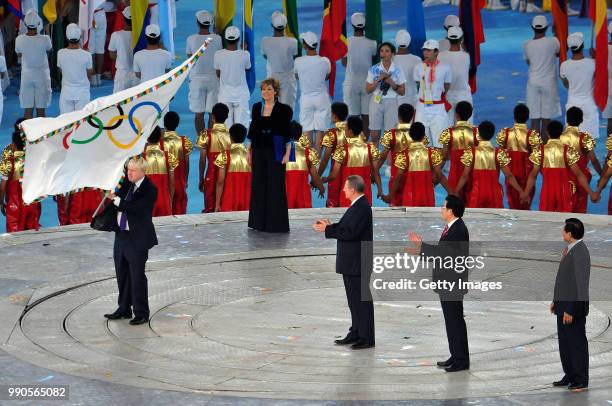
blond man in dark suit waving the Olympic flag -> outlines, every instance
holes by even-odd
[[[113,257],[117,285],[119,285],[119,308],[104,317],[110,320],[134,318],[135,326],[149,321],[149,297],[145,264],[149,249],[157,245],[153,227],[153,206],[157,200],[157,188],[145,176],[146,162],[133,158],[128,163],[127,180],[117,195],[109,196],[117,211],[115,245]]]

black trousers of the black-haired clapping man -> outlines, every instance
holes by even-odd
[[[470,366],[467,327],[463,318],[463,300],[442,300],[442,314],[446,325],[448,349],[454,364]]]

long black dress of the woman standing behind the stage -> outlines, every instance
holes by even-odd
[[[251,205],[249,227],[270,233],[289,232],[289,207],[285,190],[285,165],[275,159],[274,136],[284,145],[290,142],[291,107],[276,102],[272,114],[264,117],[262,102],[251,114]]]

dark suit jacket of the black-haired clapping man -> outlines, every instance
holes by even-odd
[[[425,257],[452,257],[453,261],[457,261],[457,257],[467,258],[470,255],[470,233],[463,222],[463,219],[458,219],[448,229],[445,236],[440,237],[438,245],[423,243],[421,246],[421,253]],[[431,258],[430,258],[431,260]],[[439,265],[438,260],[434,261],[434,268],[432,271],[432,281],[448,281],[455,282],[452,290],[439,290],[435,291],[441,295],[455,296],[457,299],[462,298],[467,293],[467,289],[459,289],[459,283],[466,282],[468,280],[468,271],[464,270],[459,272],[459,269],[445,269],[439,268],[435,265]]]

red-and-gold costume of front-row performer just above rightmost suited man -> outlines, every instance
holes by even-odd
[[[578,152],[561,140],[548,140],[529,156],[529,160],[542,171],[540,211],[572,211],[572,196],[576,185],[569,167],[580,159]],[[581,187],[581,186],[578,186]]]

